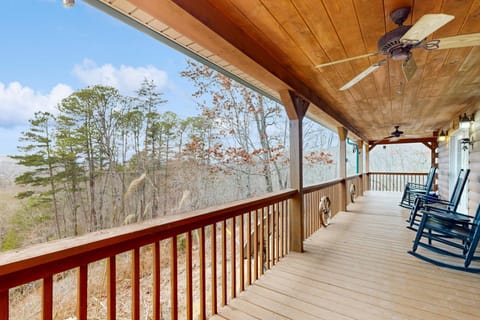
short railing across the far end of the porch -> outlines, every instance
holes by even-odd
[[[407,182],[425,184],[427,175],[419,172],[370,172],[368,186],[372,191],[402,192]]]

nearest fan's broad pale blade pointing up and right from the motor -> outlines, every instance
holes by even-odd
[[[454,18],[454,16],[444,13],[426,14],[400,38],[400,41],[406,44],[419,43]]]

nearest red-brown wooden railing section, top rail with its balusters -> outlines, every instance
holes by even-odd
[[[132,274],[132,317],[138,319],[140,316],[140,254],[141,247],[150,245],[152,249],[152,255],[154,257],[152,263],[152,269],[154,270],[154,284],[153,294],[155,301],[152,305],[153,318],[160,319],[160,286],[159,286],[159,272],[160,272],[160,241],[170,239],[170,276],[171,276],[171,314],[172,319],[178,317],[178,246],[177,236],[186,234],[186,317],[193,318],[192,309],[192,231],[200,230],[199,236],[199,250],[200,254],[200,287],[202,290],[206,290],[206,278],[205,278],[205,230],[208,228],[210,231],[212,248],[211,261],[211,297],[212,297],[212,312],[216,313],[217,309],[217,292],[222,292],[222,304],[225,304],[229,299],[233,299],[239,292],[244,289],[244,279],[242,284],[238,284],[237,274],[243,274],[246,266],[243,262],[236,259],[238,256],[242,257],[239,252],[243,253],[243,245],[236,246],[236,234],[241,234],[243,242],[243,233],[245,230],[250,232],[251,224],[254,226],[262,226],[262,230],[255,230],[254,241],[260,240],[262,243],[252,244],[249,247],[254,247],[252,252],[256,255],[260,255],[260,261],[263,261],[263,255],[261,252],[269,252],[266,257],[266,268],[269,269],[275,265],[278,260],[285,255],[288,249],[288,228],[284,222],[287,220],[288,205],[287,201],[291,199],[298,191],[294,189],[287,189],[280,192],[270,193],[267,195],[235,201],[229,204],[218,205],[215,207],[198,210],[191,213],[180,214],[175,216],[168,216],[163,218],[157,218],[154,220],[146,221],[143,223],[133,224],[129,226],[118,227],[114,229],[102,230],[87,235],[83,235],[76,238],[62,239],[58,241],[52,241],[49,243],[43,243],[34,245],[25,249],[16,251],[10,251],[0,255],[0,307],[2,312],[0,313],[0,320],[9,319],[9,289],[27,284],[35,280],[43,279],[43,298],[42,298],[42,314],[43,317],[49,318],[52,314],[52,277],[55,274],[63,271],[77,269],[77,317],[78,319],[86,319],[87,317],[87,283],[88,283],[88,265],[91,262],[100,260],[106,261],[107,271],[107,317],[108,319],[115,319],[117,313],[115,311],[116,304],[116,255],[124,252],[131,252],[131,274]],[[260,210],[260,211],[259,211]],[[255,221],[252,221],[252,212]],[[258,212],[266,214],[267,221],[274,223],[270,226],[267,224],[267,233],[264,235],[264,221],[258,215]],[[248,216],[248,228],[243,223],[245,216]],[[239,219],[237,219],[239,218]],[[265,218],[265,217],[264,217]],[[238,220],[241,223],[238,223]],[[260,220],[260,222],[258,221]],[[216,284],[216,272],[217,272],[217,256],[216,245],[218,239],[216,238],[217,223],[221,224],[221,247],[222,258],[218,263],[221,265],[220,270],[222,272],[222,283],[217,288]],[[230,227],[227,249],[226,229],[227,223]],[[260,235],[256,234],[260,232]],[[282,234],[280,234],[282,232]],[[266,248],[263,243],[264,237],[268,236]],[[240,236],[238,236],[240,237]],[[259,239],[260,238],[260,239]],[[250,237],[248,237],[249,242]],[[258,247],[260,246],[260,248]],[[268,249],[269,246],[272,246]],[[253,248],[252,248],[253,249]],[[228,250],[228,251],[227,251]],[[230,260],[230,270],[227,270],[227,253]],[[257,270],[259,268],[259,257],[250,258],[248,254],[248,261],[255,261],[256,265],[248,265],[248,284],[251,283],[252,269],[255,272],[253,279],[257,277]],[[243,259],[242,259],[243,261]],[[241,271],[237,270],[241,268]],[[227,278],[227,272],[229,277]],[[243,278],[243,276],[242,276]],[[227,292],[227,282],[230,287],[230,292]],[[205,317],[206,313],[206,294],[202,292],[200,301],[200,314]]]

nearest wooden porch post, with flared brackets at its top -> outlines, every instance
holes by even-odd
[[[290,206],[290,250],[303,251],[303,125],[307,100],[292,91],[280,92],[290,120],[290,187],[297,189]]]

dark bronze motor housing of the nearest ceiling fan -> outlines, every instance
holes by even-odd
[[[387,32],[378,40],[378,51],[393,60],[406,60],[410,55],[412,46],[400,42],[400,39],[411,27],[399,26],[397,29]]]

